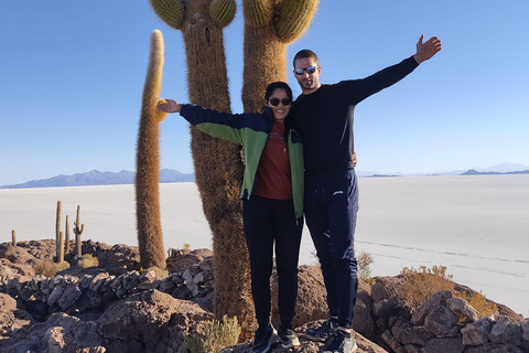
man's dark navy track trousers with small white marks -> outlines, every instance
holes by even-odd
[[[358,188],[355,171],[305,175],[306,225],[327,290],[327,304],[338,324],[350,328],[358,288],[355,227]]]

